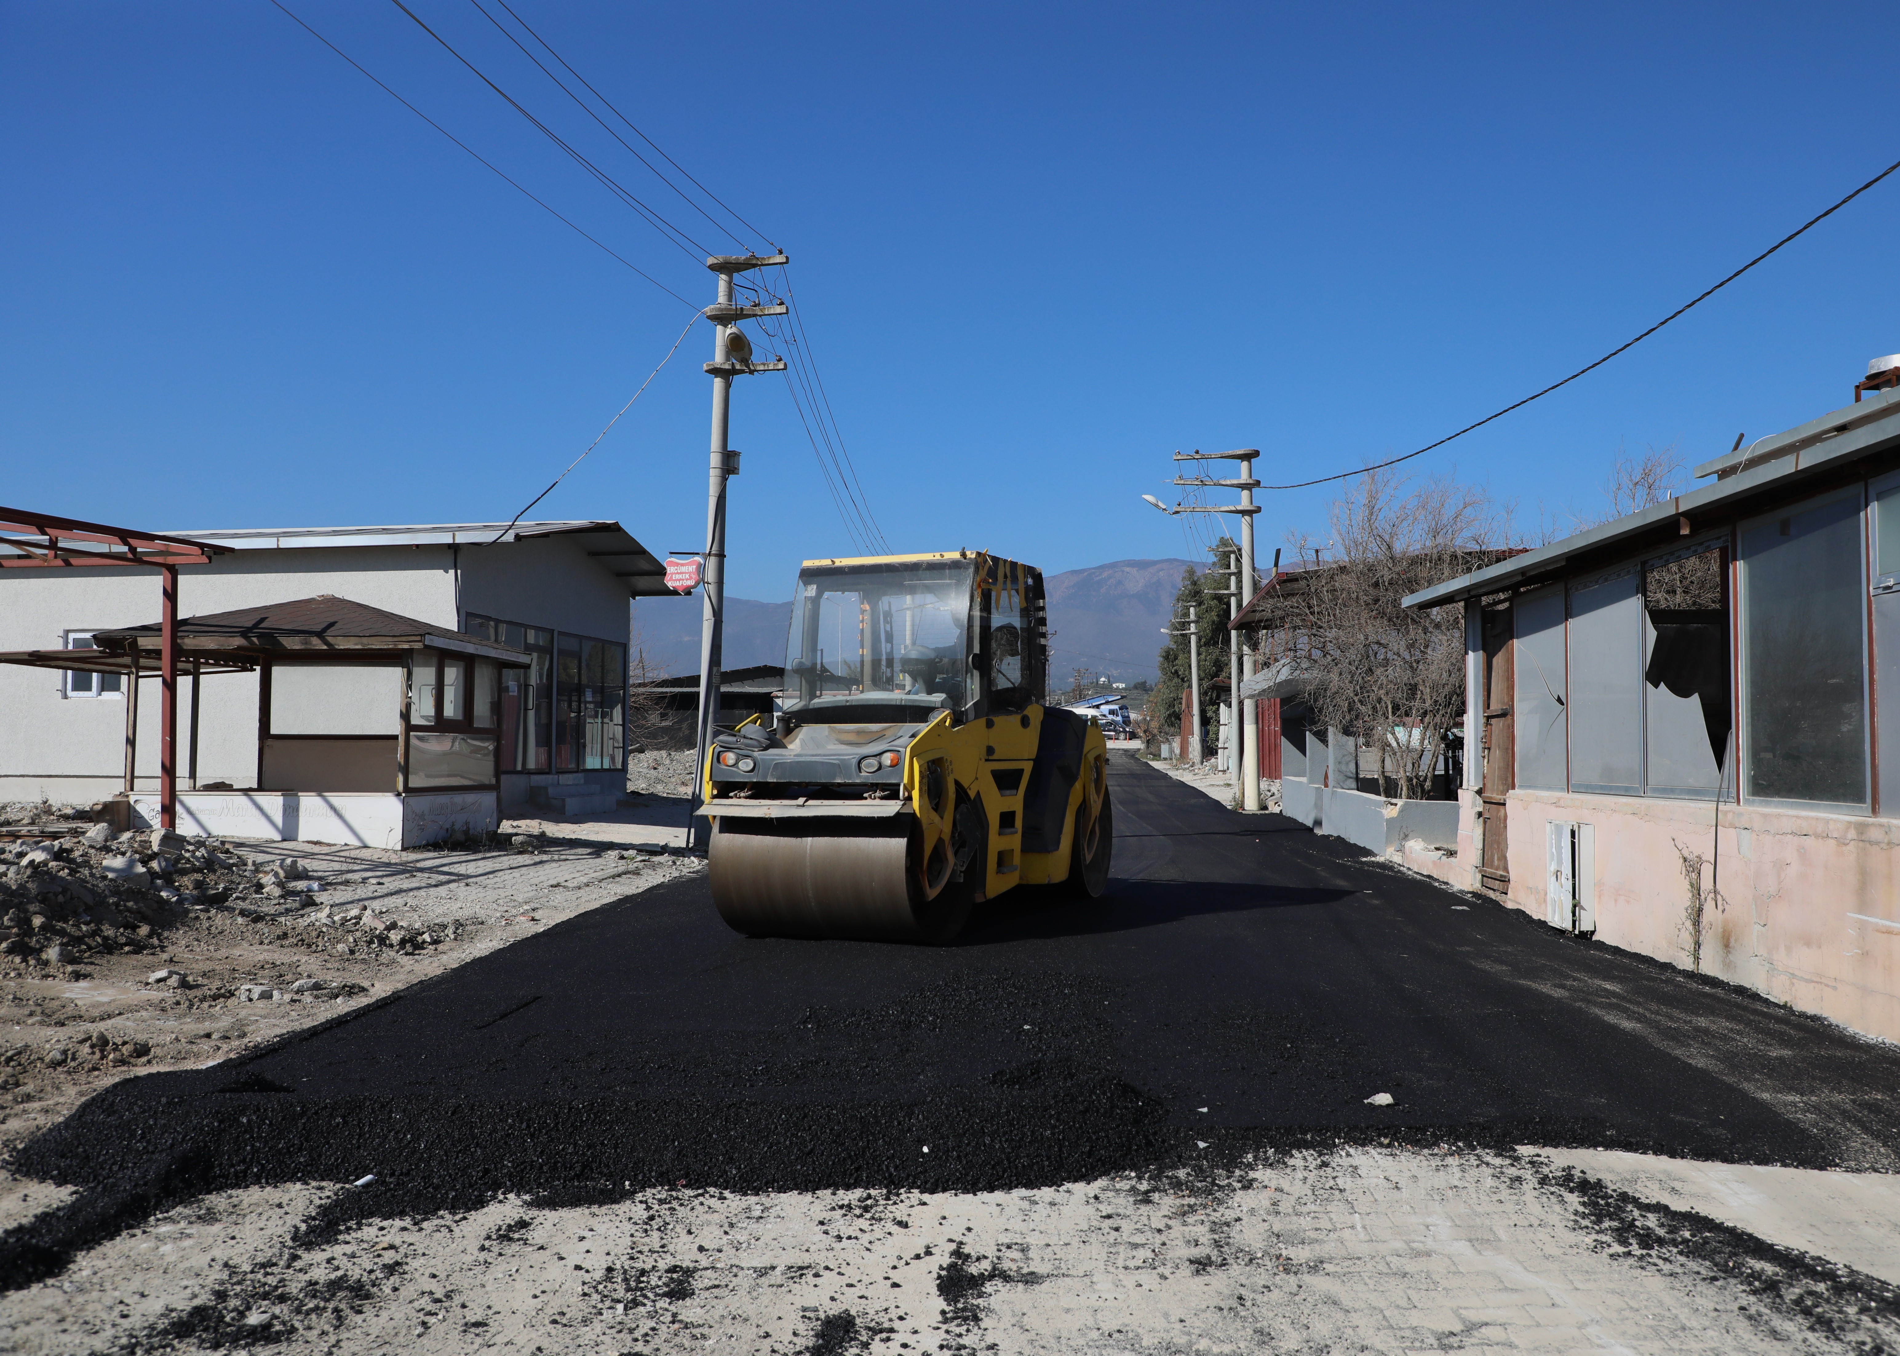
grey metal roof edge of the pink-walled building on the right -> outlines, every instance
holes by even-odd
[[[1900,395],[1900,391],[1883,391],[1881,395],[1892,397]],[[1440,585],[1410,594],[1402,604],[1406,608],[1438,608],[1448,602],[1461,602],[1463,598],[1503,593],[1537,575],[1560,572],[1573,556],[1602,553],[1619,543],[1634,547],[1638,537],[1659,536],[1661,530],[1668,530],[1683,515],[1689,518],[1697,515],[1720,517],[1721,511],[1738,509],[1742,507],[1742,499],[1754,496],[1769,496],[1782,501],[1799,498],[1809,480],[1839,473],[1864,458],[1900,448],[1900,418],[1896,418],[1900,416],[1900,399],[1883,399],[1879,410],[1864,410],[1866,405],[1870,403],[1864,401],[1862,406],[1851,405],[1845,410],[1809,420],[1775,439],[1761,439],[1754,448],[1737,452],[1735,465],[1738,469],[1721,475],[1714,484],[1704,484],[1700,490],[1689,490],[1662,503],[1653,503],[1647,509],[1638,509],[1615,522],[1606,522],[1588,532],[1552,541],[1547,547],[1537,547],[1488,570],[1474,570],[1457,579],[1446,579]],[[1767,452],[1769,443],[1776,446],[1773,454]],[[1697,471],[1706,473],[1710,467],[1720,467],[1725,461],[1729,458],[1718,458],[1697,467]]]

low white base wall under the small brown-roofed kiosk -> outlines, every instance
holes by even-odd
[[[158,824],[158,796],[137,792],[131,820]],[[422,847],[500,826],[494,792],[179,792],[179,832],[215,838]]]

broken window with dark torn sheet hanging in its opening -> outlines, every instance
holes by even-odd
[[[1644,781],[1714,796],[1729,746],[1729,612],[1720,543],[1644,568]]]

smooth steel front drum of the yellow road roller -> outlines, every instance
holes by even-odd
[[[969,917],[956,887],[925,898],[914,822],[716,819],[707,866],[720,917],[747,936],[940,944]]]

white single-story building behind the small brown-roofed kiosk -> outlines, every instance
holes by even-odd
[[[505,727],[481,735],[496,741],[498,773],[494,788],[484,792],[492,817],[530,807],[597,811],[623,794],[629,600],[669,591],[665,568],[618,522],[249,528],[177,536],[232,549],[209,564],[179,570],[184,619],[329,596],[393,613],[397,623],[422,623],[443,638],[443,651],[492,648],[494,653],[481,657],[496,663],[496,682],[504,687],[494,701],[498,710],[505,703],[509,712]],[[0,555],[6,551],[0,539]],[[95,650],[95,634],[148,627],[158,615],[160,581],[150,572],[0,570],[0,651]],[[401,629],[391,623],[382,631]],[[150,674],[154,659],[144,642],[142,653]],[[312,762],[308,750],[296,762],[298,771],[289,773],[289,754],[264,758],[264,741],[393,741],[403,703],[391,693],[403,687],[410,701],[416,697],[414,676],[403,682],[407,663],[384,663],[388,672],[376,674],[357,665],[350,680],[334,661],[317,676],[308,655],[283,655],[258,667],[207,672],[194,684],[190,648],[180,653],[180,792],[228,786],[321,798],[401,790],[393,781],[380,792],[365,790],[365,777],[380,777],[370,762],[340,756]],[[511,667],[515,663],[521,667]],[[266,674],[279,665],[283,682],[270,693]],[[0,665],[0,800],[87,803],[122,790],[133,792],[135,803],[150,800],[148,792],[158,790],[158,703],[150,691],[156,684],[150,676],[142,680],[141,705],[148,714],[129,722],[131,680],[108,672],[110,667]],[[467,680],[475,680],[473,670]],[[321,699],[314,684],[323,687]],[[443,699],[429,691],[429,701],[439,705]],[[300,724],[312,727],[300,729]],[[129,727],[135,748],[127,786]],[[393,775],[393,746],[390,752]],[[283,781],[294,784],[274,784]],[[315,813],[315,805],[310,809]],[[306,820],[306,838],[321,838],[310,832],[310,815],[296,819]],[[190,826],[180,822],[180,828]]]

